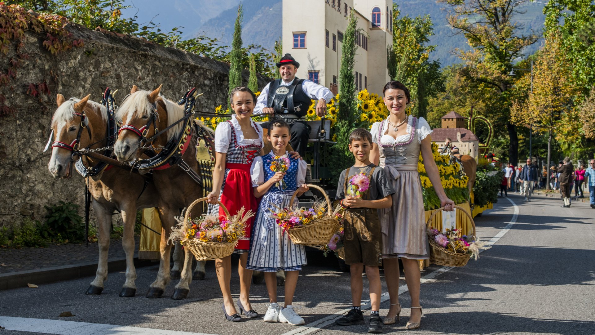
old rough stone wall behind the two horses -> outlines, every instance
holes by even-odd
[[[106,86],[119,89],[116,102],[136,84],[142,89],[161,90],[176,100],[196,86],[204,95],[197,100],[200,110],[225,106],[229,65],[174,48],[164,48],[129,36],[95,32],[68,26],[84,46],[52,55],[39,36],[27,32],[21,52],[29,52],[17,76],[0,85],[5,104],[15,113],[0,117],[0,226],[20,224],[26,216],[43,219],[44,205],[71,201],[83,209],[84,184],[75,173],[70,179],[54,179],[48,171],[50,151],[42,153],[48,141],[49,124],[57,107],[56,94],[101,101]],[[7,55],[0,52],[0,66],[15,58],[16,44]],[[0,72],[5,72],[3,68]],[[248,71],[243,73],[248,83]],[[49,94],[27,94],[31,83],[46,83]],[[259,77],[259,86],[267,83]]]

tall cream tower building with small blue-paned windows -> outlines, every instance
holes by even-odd
[[[391,0],[283,0],[283,53],[299,63],[296,76],[337,93],[343,33],[351,11],[358,21],[355,56],[357,91],[382,93],[390,80]]]

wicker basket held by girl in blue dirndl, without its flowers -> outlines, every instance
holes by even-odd
[[[334,233],[339,230],[339,220],[333,217],[333,204],[328,198],[327,194],[320,186],[308,184],[308,187],[315,188],[321,191],[325,200],[327,200],[328,215],[324,218],[316,219],[312,224],[287,229],[287,234],[291,238],[293,244],[301,244],[302,246],[324,246],[331,240]],[[297,191],[293,193],[290,204],[293,204]]]

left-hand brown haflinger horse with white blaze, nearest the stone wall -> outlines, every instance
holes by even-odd
[[[52,117],[55,142],[48,169],[54,178],[70,178],[73,164],[79,159],[80,148],[103,148],[108,145],[107,108],[89,100],[89,95],[79,100],[65,100],[58,94],[58,109]],[[102,151],[100,151],[102,152]],[[74,156],[74,158],[73,158]],[[80,158],[86,168],[97,166],[98,160]],[[134,269],[134,222],[138,208],[154,207],[157,204],[155,186],[145,185],[145,178],[121,168],[108,166],[102,172],[86,178],[92,196],[93,210],[98,222],[99,263],[95,279],[86,294],[101,294],[108,275],[109,230],[112,213],[120,210],[124,221],[122,247],[126,253],[126,281],[120,291],[121,297],[133,297],[136,293],[136,269]]]

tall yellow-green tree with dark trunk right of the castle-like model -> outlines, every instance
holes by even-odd
[[[513,15],[527,0],[439,0],[450,6],[447,20],[453,28],[465,35],[471,51],[456,49],[464,61],[461,74],[469,82],[485,84],[495,91],[495,101],[487,103],[490,110],[484,116],[494,128],[505,128],[509,137],[508,159],[518,163],[518,134],[510,122],[511,99],[508,90],[513,79],[508,76],[513,61],[522,57],[525,46],[537,41],[536,35],[522,35]],[[490,106],[491,105],[491,106]]]

